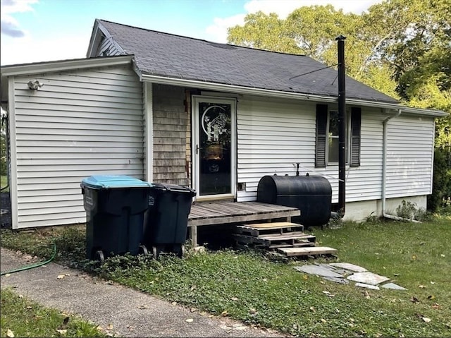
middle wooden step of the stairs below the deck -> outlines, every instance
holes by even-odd
[[[233,234],[235,242],[240,246],[265,247],[265,248],[287,248],[297,246],[315,246],[315,236],[295,232],[289,234],[270,234],[261,236],[247,236]]]

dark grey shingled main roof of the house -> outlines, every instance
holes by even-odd
[[[319,70],[325,65],[309,56],[218,44],[106,20],[97,19],[96,23],[122,49],[121,54],[135,55],[137,70],[142,74],[307,95],[338,95],[337,71]],[[398,103],[350,77],[346,78],[346,95]]]

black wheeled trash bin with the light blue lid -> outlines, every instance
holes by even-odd
[[[86,210],[86,255],[137,255],[151,183],[125,175],[89,176],[80,183]]]

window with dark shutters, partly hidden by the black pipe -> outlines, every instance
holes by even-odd
[[[360,165],[361,109],[352,107],[346,128],[346,162],[350,167]],[[328,111],[327,104],[316,105],[315,167],[338,163],[338,111]]]

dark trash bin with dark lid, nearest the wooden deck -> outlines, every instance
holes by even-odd
[[[149,188],[149,210],[144,221],[142,242],[155,258],[161,251],[182,256],[185,253],[188,215],[192,197],[191,188],[174,184],[154,183]]]

